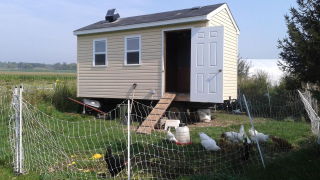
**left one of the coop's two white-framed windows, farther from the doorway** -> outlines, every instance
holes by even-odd
[[[107,39],[94,39],[93,40],[93,66],[107,66]]]

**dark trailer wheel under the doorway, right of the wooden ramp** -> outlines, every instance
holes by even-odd
[[[187,120],[187,109],[182,103],[173,102],[168,108],[166,116],[169,119],[178,119],[180,122],[186,122]]]

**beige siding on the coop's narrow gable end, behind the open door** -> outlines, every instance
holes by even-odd
[[[227,10],[222,10],[209,21],[209,26],[224,26],[223,99],[237,98],[238,35]]]

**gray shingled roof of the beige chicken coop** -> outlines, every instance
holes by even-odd
[[[196,10],[190,10],[189,8],[189,9],[162,12],[162,13],[156,13],[156,14],[147,14],[142,16],[119,18],[118,20],[111,23],[109,23],[108,21],[102,20],[94,24],[91,24],[89,26],[85,26],[83,28],[77,29],[74,32],[100,29],[100,28],[120,27],[120,26],[127,26],[127,25],[133,25],[133,24],[151,23],[151,22],[158,22],[158,21],[196,17],[196,16],[204,16],[214,11],[215,9],[219,8],[223,4],[224,3],[209,5],[209,6],[202,6],[200,9],[196,9]]]

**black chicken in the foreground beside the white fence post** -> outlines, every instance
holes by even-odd
[[[121,172],[127,164],[126,161],[124,161],[120,158],[115,158],[114,156],[112,156],[112,150],[109,148],[106,151],[106,155],[104,156],[104,160],[107,163],[108,171],[112,177],[119,174],[119,172]]]

